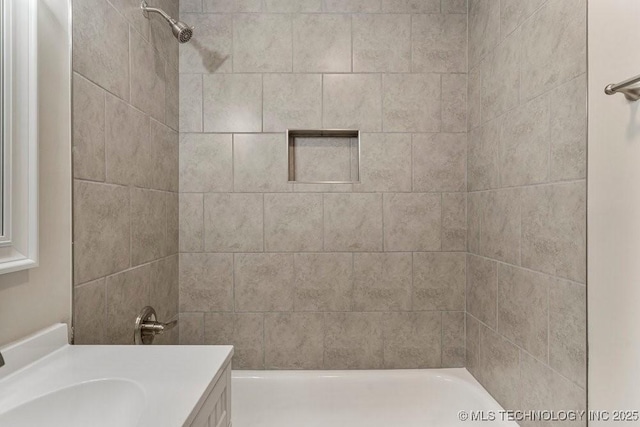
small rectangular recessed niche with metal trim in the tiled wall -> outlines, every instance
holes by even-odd
[[[289,182],[360,182],[360,131],[287,130]]]

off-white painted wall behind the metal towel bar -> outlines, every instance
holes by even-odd
[[[640,410],[640,1],[589,1],[589,408]],[[592,422],[590,426],[617,425]],[[630,425],[633,423],[625,424]],[[633,425],[640,425],[640,422]]]

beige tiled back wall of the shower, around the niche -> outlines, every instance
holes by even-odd
[[[245,369],[463,366],[466,1],[181,17],[180,342]],[[361,184],[288,183],[287,128],[360,129]]]

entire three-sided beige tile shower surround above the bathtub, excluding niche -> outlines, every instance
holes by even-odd
[[[584,408],[585,0],[182,0],[179,53],[74,3],[76,342],[151,303],[239,369]],[[289,184],[287,128],[361,130],[361,183]]]

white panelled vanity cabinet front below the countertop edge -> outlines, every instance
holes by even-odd
[[[191,427],[229,427],[231,425],[231,364],[209,393]]]

